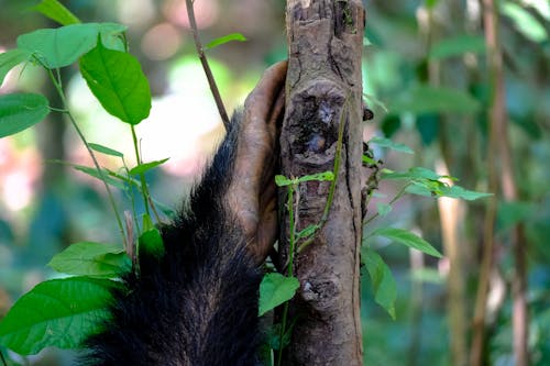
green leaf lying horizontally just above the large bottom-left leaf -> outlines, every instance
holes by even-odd
[[[47,265],[62,274],[113,278],[129,264],[121,245],[81,242],[56,254]]]

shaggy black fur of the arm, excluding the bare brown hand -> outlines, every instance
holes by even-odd
[[[261,271],[224,207],[239,118],[194,190],[189,208],[163,230],[162,259],[113,291],[112,320],[90,337],[84,365],[255,365]]]

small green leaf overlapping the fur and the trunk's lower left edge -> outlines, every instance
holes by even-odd
[[[260,284],[258,317],[290,300],[299,287],[300,282],[296,277],[285,277],[277,273],[265,275]]]

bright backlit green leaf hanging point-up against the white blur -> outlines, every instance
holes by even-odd
[[[91,92],[110,114],[138,124],[151,111],[151,89],[138,59],[108,49],[101,42],[80,58],[82,74]]]

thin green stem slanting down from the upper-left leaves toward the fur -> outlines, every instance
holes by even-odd
[[[111,188],[109,187],[109,184],[107,182],[107,178],[105,176],[103,170],[99,166],[98,159],[96,158],[96,154],[94,154],[94,151],[88,145],[88,141],[84,136],[82,131],[80,130],[80,127],[76,123],[76,120],[73,117],[73,114],[70,113],[70,111],[68,110],[67,98],[65,97],[65,92],[63,91],[63,87],[61,84],[61,76],[58,75],[56,78],[54,76],[54,74],[52,73],[52,69],[47,69],[47,74],[50,75],[50,78],[52,79],[52,82],[54,84],[55,89],[57,90],[57,93],[59,95],[59,98],[61,98],[62,103],[63,103],[63,108],[66,111],[65,114],[67,114],[70,123],[73,124],[76,133],[78,134],[78,137],[86,146],[86,149],[88,151],[88,154],[90,155],[91,160],[94,162],[94,166],[96,167],[96,170],[98,171],[98,175],[101,178],[101,181],[103,182],[103,186],[105,186],[106,191],[107,191],[107,197],[109,199],[109,203],[111,204],[111,209],[114,212],[114,218],[117,219],[117,225],[119,226],[119,232],[120,232],[120,235],[122,236],[122,242],[124,244],[124,247],[127,247],[128,242],[127,242],[127,236],[124,235],[124,226],[122,224],[122,219],[120,218],[119,210],[117,209],[117,203],[114,202],[114,198],[112,196]]]

